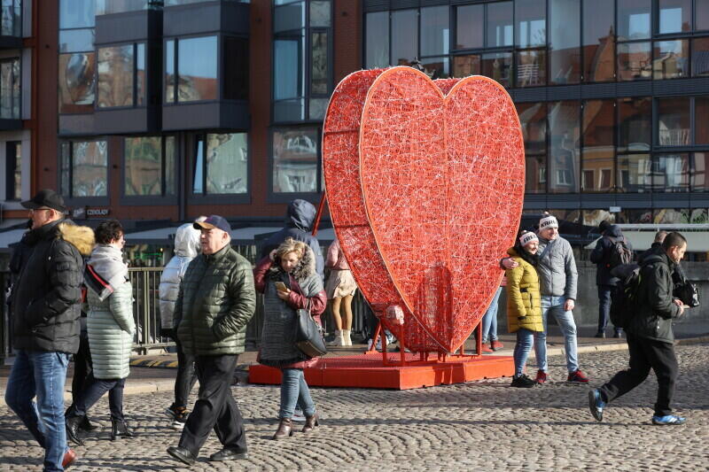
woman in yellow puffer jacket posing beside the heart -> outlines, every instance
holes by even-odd
[[[510,333],[517,333],[514,360],[515,375],[512,387],[534,387],[534,380],[524,374],[526,358],[534,344],[534,332],[543,331],[541,322],[541,296],[536,265],[539,261],[539,239],[529,231],[522,231],[507,253],[518,263],[506,270],[507,275],[507,325]]]

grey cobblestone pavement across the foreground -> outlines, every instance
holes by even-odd
[[[271,441],[277,387],[234,387],[246,418],[249,460],[206,461],[219,450],[209,438],[192,470],[706,470],[709,468],[709,344],[677,347],[681,375],[674,397],[688,423],[652,426],[654,375],[606,409],[603,423],[588,413],[588,388],[563,383],[563,359],[551,360],[552,382],[534,389],[508,387],[509,379],[412,391],[313,389],[323,425]],[[598,385],[624,368],[627,352],[581,356]],[[533,366],[530,366],[532,371]],[[168,393],[126,398],[126,414],[141,437],[108,440],[108,408],[93,414],[103,429],[75,450],[71,470],[186,470],[165,449],[179,432],[162,408]],[[0,469],[41,468],[41,449],[17,418],[0,408]]]

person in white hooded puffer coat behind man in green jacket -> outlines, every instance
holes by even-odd
[[[204,221],[200,217],[197,221]],[[194,357],[183,352],[180,341],[172,329],[175,300],[180,292],[180,283],[184,272],[192,259],[199,255],[199,231],[192,223],[183,224],[175,232],[175,255],[169,260],[160,277],[160,325],[161,334],[171,337],[177,348],[177,376],[175,378],[175,400],[166,408],[165,413],[173,420],[175,429],[182,429],[187,420],[187,398],[197,382],[194,372]]]

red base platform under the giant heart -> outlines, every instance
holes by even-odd
[[[378,352],[355,356],[321,358],[305,369],[308,385],[317,387],[357,387],[367,389],[418,389],[433,385],[464,383],[514,374],[509,356],[447,356],[445,360],[421,360],[418,354],[406,354],[406,365],[396,365],[401,354],[387,354],[387,365]],[[391,364],[389,364],[391,363]],[[260,364],[249,368],[250,383],[279,384],[281,372]]]

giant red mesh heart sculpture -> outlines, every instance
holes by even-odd
[[[410,67],[340,82],[323,129],[335,231],[362,293],[401,305],[415,351],[453,352],[499,285],[524,197],[524,142],[486,77],[431,81]],[[444,95],[448,93],[447,95]]]

